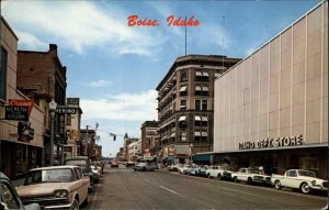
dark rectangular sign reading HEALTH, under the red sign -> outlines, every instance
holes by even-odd
[[[4,119],[16,121],[29,121],[29,107],[4,106]]]

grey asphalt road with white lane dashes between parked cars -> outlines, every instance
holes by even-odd
[[[321,209],[327,197],[272,187],[105,167],[83,209]]]

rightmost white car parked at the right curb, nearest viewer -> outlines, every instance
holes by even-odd
[[[316,174],[305,169],[290,169],[284,175],[272,175],[272,185],[275,189],[282,187],[299,189],[303,194],[311,190],[328,190],[328,180],[316,177]]]

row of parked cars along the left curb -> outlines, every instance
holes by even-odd
[[[88,205],[103,168],[87,156],[67,158],[65,165],[29,170],[16,188],[0,173],[0,209],[79,209]]]

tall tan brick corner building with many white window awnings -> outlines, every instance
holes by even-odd
[[[217,55],[178,57],[157,87],[162,156],[186,163],[213,147],[214,80],[240,59]]]

